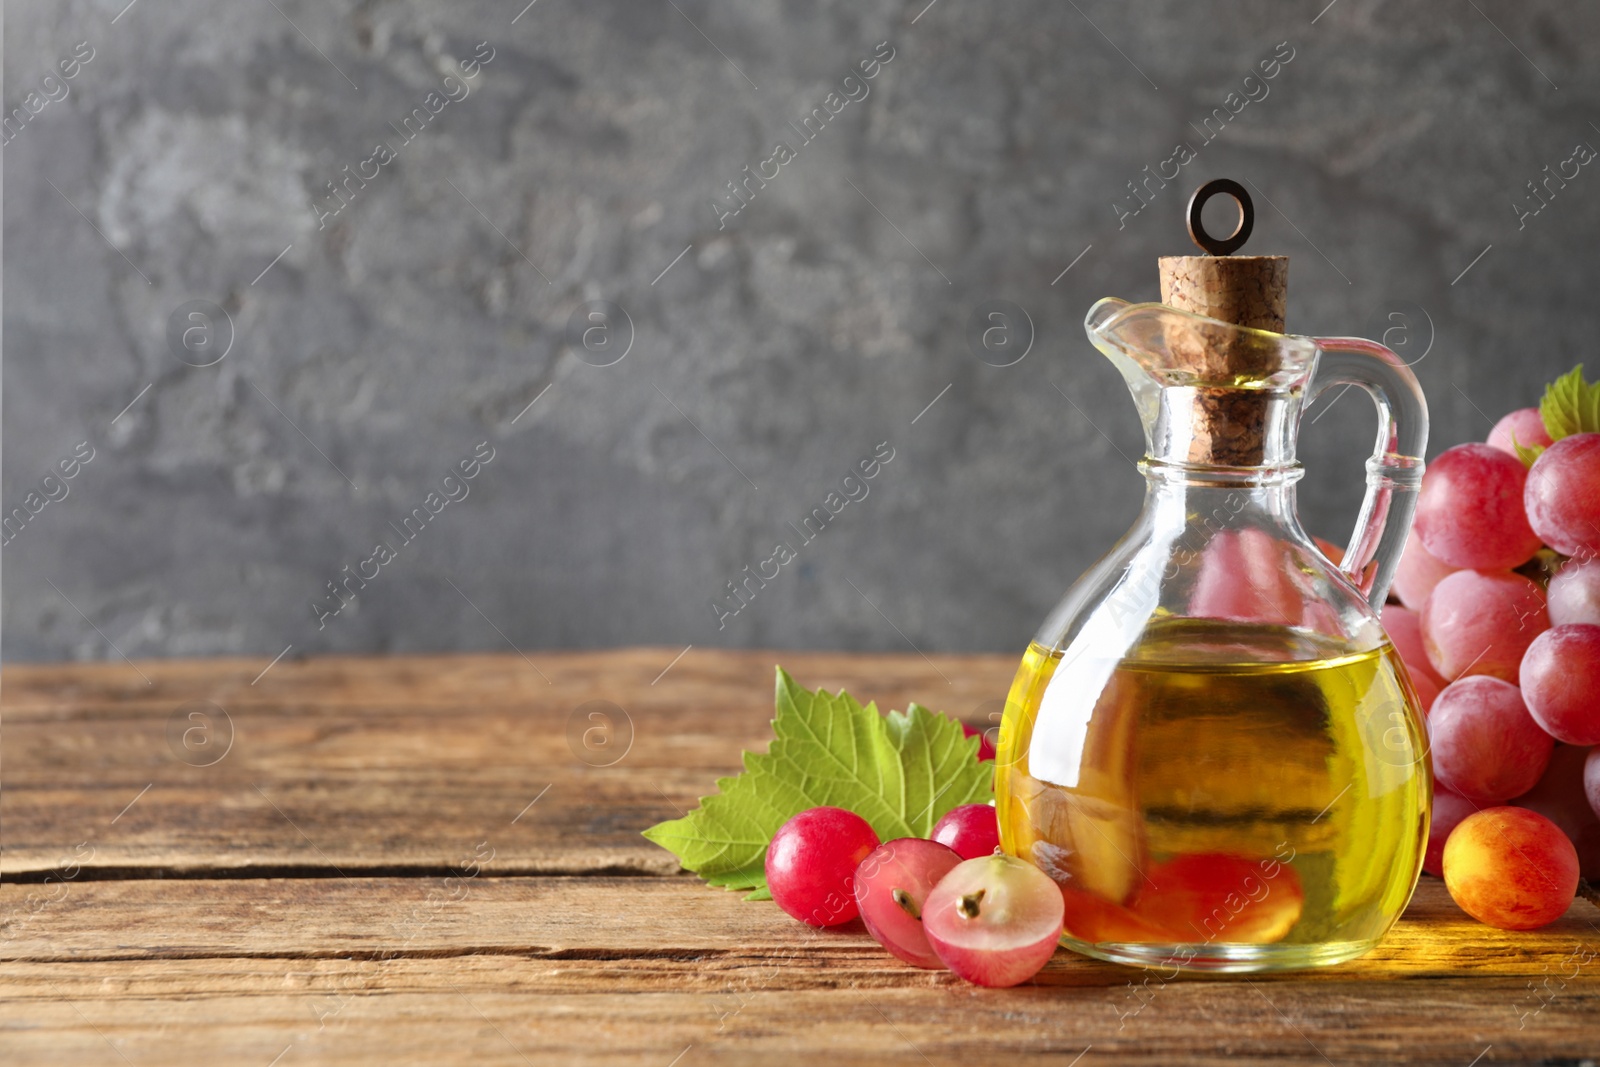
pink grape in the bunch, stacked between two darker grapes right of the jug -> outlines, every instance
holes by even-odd
[[[1517,681],[1522,656],[1550,627],[1544,590],[1510,571],[1456,571],[1422,605],[1422,646],[1440,678]]]

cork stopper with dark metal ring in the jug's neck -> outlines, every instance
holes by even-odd
[[[1238,203],[1238,227],[1214,238],[1200,222],[1200,208],[1224,194]],[[1211,320],[1283,333],[1288,302],[1286,256],[1232,256],[1250,237],[1254,208],[1250,194],[1234,181],[1218,179],[1189,200],[1189,235],[1208,256],[1162,256],[1162,302]],[[1226,467],[1262,464],[1270,397],[1253,389],[1278,371],[1275,344],[1208,323],[1173,325],[1166,330],[1173,366],[1194,382],[1195,413],[1189,461]]]

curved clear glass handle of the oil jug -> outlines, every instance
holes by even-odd
[[[1411,514],[1422,483],[1427,451],[1427,400],[1406,363],[1360,338],[1314,338],[1317,376],[1306,390],[1306,408],[1334,386],[1355,386],[1378,408],[1378,443],[1366,461],[1366,498],[1339,566],[1373,611],[1382,608],[1411,533]]]

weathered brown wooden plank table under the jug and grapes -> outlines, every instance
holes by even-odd
[[[8,667],[0,1062],[1600,1054],[1587,901],[1509,934],[1426,878],[1344,966],[1163,981],[1061,952],[1030,985],[982,990],[896,963],[859,926],[811,931],[706,888],[638,832],[766,744],[774,656],[694,649],[662,675],[675,651],[283,661],[259,681],[258,661]],[[970,720],[1013,669],[781,661],[805,685]],[[589,701],[632,725],[610,766],[629,731]],[[611,733],[586,747],[595,710]]]

